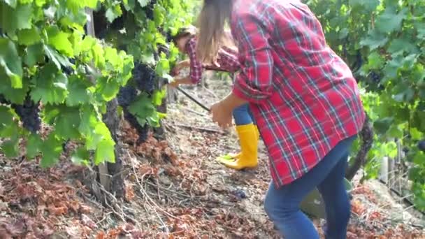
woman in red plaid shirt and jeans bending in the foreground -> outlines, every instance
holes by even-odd
[[[267,147],[272,183],[264,208],[284,238],[319,235],[299,205],[315,187],[326,205],[326,238],[345,238],[350,201],[344,186],[352,141],[365,113],[356,80],[298,0],[204,0],[197,55],[215,61],[229,23],[240,73],[233,91],[211,107],[231,124],[245,103]]]

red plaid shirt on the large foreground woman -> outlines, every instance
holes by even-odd
[[[250,102],[277,187],[310,171],[365,119],[356,81],[300,1],[235,0],[240,73],[233,93]]]

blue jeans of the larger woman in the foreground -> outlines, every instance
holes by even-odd
[[[350,147],[356,136],[336,147],[303,177],[279,189],[271,182],[264,209],[286,239],[319,239],[315,226],[299,205],[310,191],[319,189],[326,210],[326,239],[345,239],[351,215],[344,177]]]

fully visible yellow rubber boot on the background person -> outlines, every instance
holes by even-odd
[[[220,160],[220,163],[228,168],[241,170],[255,168],[258,164],[258,137],[259,133],[254,124],[236,126],[240,142],[240,155],[236,160]]]

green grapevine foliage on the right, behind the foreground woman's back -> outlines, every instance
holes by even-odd
[[[304,2],[362,87],[363,104],[376,133],[366,178],[377,177],[380,159],[396,157],[395,145],[402,144],[415,206],[425,209],[425,2]]]

